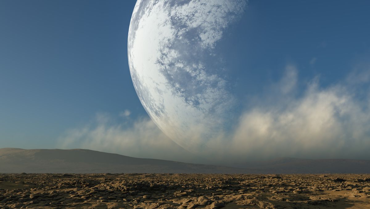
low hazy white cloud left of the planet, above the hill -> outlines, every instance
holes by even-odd
[[[91,149],[119,153],[131,157],[191,161],[195,156],[165,136],[150,118],[141,118],[126,127],[129,121],[117,124],[107,114],[82,128],[68,130],[58,140],[65,149]]]

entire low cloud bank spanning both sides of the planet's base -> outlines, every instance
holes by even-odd
[[[281,80],[246,108],[232,133],[218,133],[204,149],[185,150],[150,118],[110,123],[106,115],[60,138],[81,147],[133,157],[195,163],[239,163],[275,157],[370,159],[370,71],[352,72],[342,83],[320,87],[319,78],[298,92],[298,73],[288,65]],[[131,123],[131,126],[127,126]],[[194,131],[191,141],[199,140]]]

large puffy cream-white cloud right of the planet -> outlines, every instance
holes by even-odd
[[[245,112],[231,150],[249,157],[370,157],[364,149],[370,146],[369,104],[361,103],[341,86],[311,84],[286,108]]]

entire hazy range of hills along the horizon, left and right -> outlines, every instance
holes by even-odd
[[[0,173],[370,173],[370,160],[295,159],[214,166],[86,149],[0,149]]]

